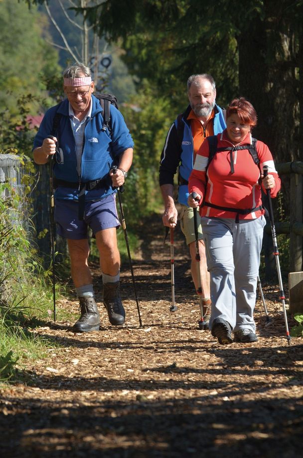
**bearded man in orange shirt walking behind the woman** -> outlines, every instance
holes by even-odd
[[[198,218],[200,268],[196,268],[196,247],[193,210],[187,205],[188,178],[195,156],[206,137],[217,135],[225,127],[223,110],[216,104],[216,85],[208,73],[189,76],[187,80],[189,105],[170,126],[160,158],[159,185],[164,202],[162,221],[164,226],[174,228],[178,212],[174,203],[173,181],[178,168],[179,220],[191,257],[191,275],[198,294],[202,294],[202,309],[205,325],[210,319],[210,285],[206,265],[206,254]],[[199,212],[197,212],[199,214]],[[199,276],[201,292],[199,291]]]

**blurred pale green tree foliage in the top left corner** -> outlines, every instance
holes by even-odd
[[[17,0],[0,3],[0,38],[0,106],[16,114],[16,97],[46,94],[43,78],[58,73],[57,52],[45,39],[47,23],[36,7]]]

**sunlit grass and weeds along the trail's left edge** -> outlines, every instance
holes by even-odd
[[[25,162],[21,157],[20,164],[25,166]],[[25,173],[25,183],[29,180]],[[41,267],[41,259],[21,225],[25,201],[13,185],[0,185],[0,381],[15,375],[17,361],[35,358],[45,347],[28,328],[33,322],[39,323],[33,316],[48,319],[50,272]]]

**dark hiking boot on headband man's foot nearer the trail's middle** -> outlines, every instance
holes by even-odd
[[[110,323],[113,325],[123,324],[125,310],[120,297],[120,281],[103,284],[103,303],[107,310]]]

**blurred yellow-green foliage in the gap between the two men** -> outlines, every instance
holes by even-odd
[[[138,95],[121,107],[134,138],[134,161],[128,176],[124,201],[126,211],[135,218],[147,215],[159,203],[158,168],[160,153],[172,120],[169,101],[157,97],[145,81]]]

